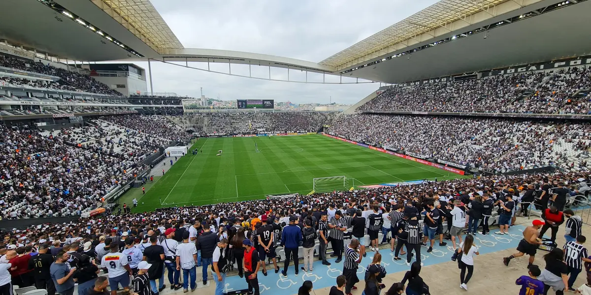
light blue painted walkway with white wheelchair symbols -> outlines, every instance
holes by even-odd
[[[480,254],[492,253],[505,249],[515,249],[517,244],[523,238],[522,231],[524,230],[523,225],[516,225],[511,227],[509,230],[510,235],[477,235],[475,238],[475,244],[479,247]],[[494,230],[497,231],[497,230]],[[491,231],[491,232],[494,232]],[[453,254],[452,242],[447,241],[447,246],[439,247],[436,241],[436,246],[433,248],[431,253],[427,253],[427,248],[421,247],[421,262],[424,266],[430,266],[437,263],[444,263],[450,261]],[[369,249],[367,249],[369,251]],[[382,266],[384,266],[388,274],[397,273],[399,271],[406,271],[409,267],[406,265],[405,255],[401,255],[402,260],[395,261],[394,253],[389,251],[389,248],[380,250],[382,254]],[[363,276],[365,273],[365,267],[371,263],[374,258],[374,252],[369,251],[367,257],[364,257],[361,266],[358,270],[358,277],[361,280],[358,283],[358,287],[362,287]],[[476,258],[478,260],[478,258]],[[413,258],[414,261],[414,258]],[[411,263],[413,262],[411,261]],[[310,280],[314,283],[314,289],[322,289],[324,287],[330,287],[336,284],[336,277],[342,273],[343,263],[335,263],[335,258],[329,260],[332,263],[331,266],[324,266],[322,261],[314,261],[314,273],[304,273],[300,270],[299,276],[296,277],[294,274],[294,267],[288,268],[287,278],[282,278],[281,273],[275,274],[275,271],[269,270],[267,265],[268,276],[262,275],[262,272],[258,273],[258,280],[260,285],[261,294],[297,294],[298,288],[306,280]],[[300,260],[300,267],[303,264],[303,260]],[[280,263],[281,269],[283,264]],[[239,276],[231,276],[226,278],[226,289],[227,291],[241,290],[248,288],[246,280]]]

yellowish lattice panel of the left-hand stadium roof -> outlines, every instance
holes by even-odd
[[[150,0],[92,0],[154,51],[183,48]]]

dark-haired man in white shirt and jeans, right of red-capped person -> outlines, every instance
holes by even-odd
[[[194,291],[197,288],[195,269],[197,264],[197,248],[195,247],[195,243],[189,242],[188,231],[183,232],[183,242],[177,245],[175,255],[176,270],[178,272],[183,270],[183,292],[189,292],[189,279],[191,291]]]

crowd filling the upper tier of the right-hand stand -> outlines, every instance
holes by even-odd
[[[591,67],[532,71],[476,80],[392,87],[359,110],[588,114]]]

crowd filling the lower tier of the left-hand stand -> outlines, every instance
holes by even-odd
[[[122,115],[77,127],[0,125],[0,218],[63,217],[96,207],[142,160],[189,137],[161,116]],[[140,130],[111,122],[141,122]],[[132,123],[133,124],[133,123]]]

